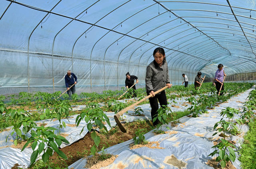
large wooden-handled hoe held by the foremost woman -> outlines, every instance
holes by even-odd
[[[156,92],[154,92],[154,94],[158,94],[160,92],[162,92],[164,89],[168,88],[168,86],[164,86],[163,88],[161,88],[160,90],[157,90]],[[124,128],[124,126],[122,125],[122,123],[120,122],[120,116],[122,116],[125,112],[127,112],[128,110],[130,110],[131,108],[133,108],[134,106],[140,104],[141,102],[143,102],[144,100],[152,97],[153,95],[150,94],[148,96],[146,96],[145,98],[142,98],[141,100],[139,100],[138,102],[124,108],[123,110],[121,110],[120,112],[118,112],[117,114],[114,115],[114,119],[116,121],[116,124],[118,125],[118,127],[120,128],[120,130],[123,132],[123,133],[126,133],[126,129]]]

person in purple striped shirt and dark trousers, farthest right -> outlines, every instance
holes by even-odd
[[[215,77],[214,77],[217,94],[219,93],[220,90],[224,90],[224,84],[223,84],[224,76],[226,76],[226,74],[224,73],[223,65],[219,64],[218,70],[216,71]],[[222,88],[220,88],[221,85],[222,85]],[[220,95],[222,95],[222,94],[223,94],[223,92],[220,92]]]

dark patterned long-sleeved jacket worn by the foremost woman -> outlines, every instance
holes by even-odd
[[[166,86],[166,83],[170,83],[167,62],[163,61],[162,66],[159,67],[155,60],[152,61],[146,69],[145,81],[146,91],[149,93],[152,90],[156,92]]]

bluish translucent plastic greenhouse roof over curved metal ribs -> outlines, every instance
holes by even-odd
[[[212,76],[222,63],[229,75],[251,72],[256,70],[255,4],[241,0],[1,0],[0,49],[23,52],[28,74],[35,77],[40,77],[37,71],[74,71],[78,69],[74,64],[87,65],[83,69],[90,73],[83,76],[90,79],[109,75],[96,84],[116,76],[113,71],[120,74],[117,80],[131,67],[136,67],[134,73],[139,67],[145,71],[158,46],[164,47],[171,70]],[[30,61],[33,56],[37,59]],[[60,59],[44,61],[44,57]],[[21,60],[16,61],[25,64]],[[42,69],[32,67],[39,63]],[[92,73],[98,69],[102,71]]]

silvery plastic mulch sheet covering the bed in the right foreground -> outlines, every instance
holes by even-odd
[[[176,127],[170,127],[170,130],[165,129],[166,134],[156,135],[153,130],[145,134],[145,139],[148,141],[158,141],[159,147],[163,149],[151,149],[148,147],[140,147],[130,149],[130,144],[133,140],[126,141],[109,147],[106,149],[108,153],[118,155],[115,161],[104,167],[104,169],[112,169],[122,167],[122,169],[141,169],[141,168],[168,168],[168,169],[211,169],[206,164],[210,153],[214,151],[211,147],[214,145],[213,140],[220,139],[220,136],[212,134],[214,124],[218,122],[222,109],[230,106],[232,108],[242,108],[242,103],[246,100],[248,93],[253,90],[247,90],[238,96],[232,97],[228,102],[220,104],[214,110],[208,110],[208,114],[203,114],[198,118],[182,117],[179,119],[180,124]],[[236,116],[235,118],[238,118]],[[238,126],[241,130],[239,136],[231,136],[228,140],[236,141],[236,147],[240,146],[243,141],[244,134],[248,131],[248,126]],[[236,157],[238,154],[236,153]],[[179,164],[177,164],[177,162]],[[69,168],[81,169],[86,165],[86,159],[80,159]],[[240,161],[236,158],[233,165],[240,169]]]

